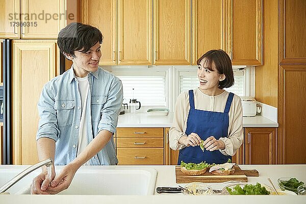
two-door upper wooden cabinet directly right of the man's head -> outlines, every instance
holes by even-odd
[[[82,8],[82,22],[104,36],[99,65],[152,64],[151,1],[85,0]]]

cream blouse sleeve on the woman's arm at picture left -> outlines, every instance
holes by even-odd
[[[185,107],[187,106],[185,103],[186,97],[186,93],[181,93],[176,99],[173,123],[169,130],[169,146],[173,150],[182,149],[185,147],[185,145],[179,144],[179,139],[182,136],[187,137],[184,130],[186,114]]]

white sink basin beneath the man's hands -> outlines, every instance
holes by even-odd
[[[13,166],[11,166],[13,167]],[[24,169],[24,168],[23,168]],[[60,169],[60,168],[59,168]],[[59,169],[56,167],[56,171]],[[0,168],[0,186],[22,170]],[[30,184],[40,172],[36,170],[25,176],[7,192],[30,194]],[[59,194],[70,195],[153,195],[157,171],[151,168],[81,167],[68,189]]]

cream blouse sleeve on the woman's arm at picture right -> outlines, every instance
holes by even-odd
[[[242,127],[242,105],[239,96],[235,95],[235,100],[231,106],[230,114],[228,114],[228,119],[230,124],[228,124],[228,136],[221,137],[225,144],[225,149],[219,151],[223,155],[234,156],[236,150],[241,146],[243,141],[243,127]]]

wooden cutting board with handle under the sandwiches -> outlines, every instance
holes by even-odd
[[[175,178],[177,184],[186,184],[190,182],[202,183],[221,183],[227,181],[247,182],[247,176],[258,176],[257,170],[241,170],[235,165],[235,173],[231,175],[214,175],[208,171],[202,175],[187,175],[181,171],[181,166],[175,166]]]

